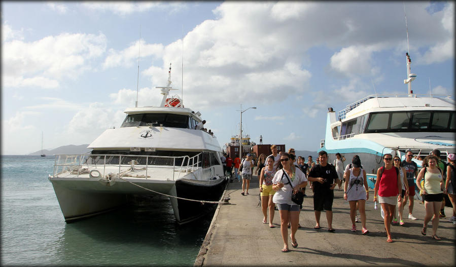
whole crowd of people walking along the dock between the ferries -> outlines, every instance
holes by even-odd
[[[294,197],[299,194],[305,195],[305,189],[309,184],[313,192],[313,210],[315,225],[313,228],[322,228],[320,224],[321,212],[325,211],[328,225],[328,232],[334,233],[332,227],[334,200],[334,188],[343,188],[343,198],[348,201],[350,211],[349,218],[352,222],[352,232],[357,232],[356,223],[361,220],[361,233],[368,235],[366,226],[366,201],[369,199],[369,187],[366,171],[363,169],[361,159],[355,155],[349,164],[344,168],[345,158],[336,154],[336,159],[328,162],[326,151],[320,151],[313,162],[312,156],[308,161],[299,156],[296,158],[295,149],[290,148],[288,152],[277,152],[277,147],[271,145],[272,154],[265,156],[261,154],[255,161],[251,154],[240,160],[227,160],[226,167],[231,173],[231,166],[234,167],[235,178],[242,179],[241,195],[249,195],[250,181],[252,175],[259,176],[260,198],[263,213],[262,223],[273,224],[274,213],[277,209],[280,217],[280,233],[284,241],[282,252],[288,252],[288,240],[290,237],[292,247],[297,247],[296,231],[300,226],[299,213],[302,204]],[[228,157],[229,158],[229,157]],[[427,235],[427,226],[432,221],[431,237],[440,240],[437,236],[439,218],[444,214],[444,195],[447,194],[453,207],[453,214],[449,219],[456,224],[456,156],[448,154],[448,163],[440,159],[440,151],[435,149],[431,155],[423,159],[423,168],[418,171],[417,164],[412,161],[417,158],[409,149],[406,150],[405,160],[401,161],[399,156],[385,154],[382,157],[383,166],[376,170],[376,181],[373,188],[373,200],[375,208],[377,203],[382,211],[384,230],[387,235],[387,242],[393,242],[391,224],[404,225],[403,210],[408,202],[408,219],[416,220],[413,216],[413,203],[415,187],[423,196],[426,215],[421,230],[422,235]],[[223,161],[223,160],[222,160]],[[256,166],[256,168],[255,168]],[[416,181],[415,181],[416,178]],[[343,185],[342,185],[343,183]],[[297,198],[297,197],[296,197]],[[302,202],[301,202],[302,203]],[[397,207],[397,209],[396,209]],[[357,216],[359,212],[360,216]],[[291,233],[288,235],[288,228]]]

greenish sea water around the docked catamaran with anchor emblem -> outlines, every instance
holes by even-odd
[[[213,213],[178,225],[167,199],[65,223],[54,157],[2,156],[2,265],[193,265]]]

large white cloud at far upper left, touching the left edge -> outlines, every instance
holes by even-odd
[[[2,77],[5,87],[57,88],[62,79],[76,79],[92,69],[103,55],[107,40],[102,33],[62,33],[34,42],[3,43]]]

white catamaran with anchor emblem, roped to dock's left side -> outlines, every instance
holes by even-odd
[[[160,106],[127,108],[120,128],[88,146],[91,154],[56,155],[49,180],[66,222],[164,194],[176,220],[185,223],[219,201],[226,185],[222,149],[214,135],[196,129],[200,112],[184,107],[178,95],[168,98],[170,85],[171,67],[167,86],[157,87]]]

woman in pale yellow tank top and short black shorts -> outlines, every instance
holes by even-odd
[[[432,220],[432,238],[440,240],[437,236],[437,227],[439,226],[439,211],[442,205],[443,193],[446,190],[445,188],[442,189],[443,175],[437,167],[437,161],[438,159],[435,156],[430,155],[426,157],[423,161],[424,168],[419,171],[418,177],[416,177],[416,186],[423,191],[426,208],[425,221],[421,234],[426,236],[428,222],[431,220],[432,215],[434,215],[434,219]],[[424,188],[421,186],[421,180],[423,178]]]

